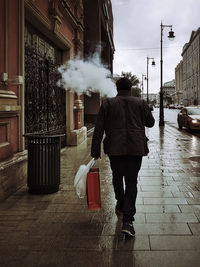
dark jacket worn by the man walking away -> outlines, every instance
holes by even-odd
[[[148,154],[145,126],[153,127],[154,117],[146,101],[119,91],[102,102],[95,125],[91,156],[101,156],[101,141],[105,132],[104,153],[109,156]]]

